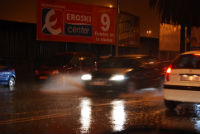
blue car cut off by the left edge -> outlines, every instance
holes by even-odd
[[[9,66],[5,60],[0,60],[0,84],[14,87],[16,83],[15,69]]]

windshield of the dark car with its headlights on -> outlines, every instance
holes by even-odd
[[[129,58],[110,58],[101,61],[98,64],[99,68],[131,68],[139,64],[136,59]]]

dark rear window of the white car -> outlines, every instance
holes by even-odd
[[[174,61],[173,68],[200,69],[200,56],[193,54],[181,55]]]

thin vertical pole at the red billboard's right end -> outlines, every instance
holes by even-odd
[[[115,44],[115,56],[119,55],[119,0],[117,0],[117,10],[116,10],[116,44]]]

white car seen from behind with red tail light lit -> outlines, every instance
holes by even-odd
[[[166,70],[163,87],[168,109],[180,103],[200,103],[200,51],[180,54]]]

